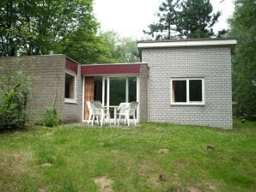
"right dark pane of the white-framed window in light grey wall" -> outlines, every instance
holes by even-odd
[[[189,81],[189,100],[202,101],[202,80]]]

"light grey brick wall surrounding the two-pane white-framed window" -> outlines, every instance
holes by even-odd
[[[232,128],[229,47],[148,48],[149,121]],[[204,77],[205,105],[170,105],[171,77]]]

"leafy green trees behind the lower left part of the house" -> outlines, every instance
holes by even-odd
[[[0,57],[65,54],[79,63],[138,61],[131,39],[98,35],[93,0],[6,0],[0,12]],[[115,41],[116,42],[116,41]]]

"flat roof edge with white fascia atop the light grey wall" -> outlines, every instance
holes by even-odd
[[[234,46],[237,40],[233,38],[213,38],[213,39],[164,39],[164,40],[142,40],[137,41],[137,48],[154,47],[188,47],[188,46]]]

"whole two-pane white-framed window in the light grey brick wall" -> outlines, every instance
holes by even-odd
[[[204,79],[171,79],[171,105],[204,105]]]

